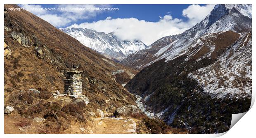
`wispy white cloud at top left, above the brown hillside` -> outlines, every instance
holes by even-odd
[[[95,10],[97,8],[109,8],[110,5],[57,5],[51,8],[54,10],[45,10],[41,5],[19,5],[27,11],[36,14],[55,27],[63,27],[71,22],[88,19],[97,16],[104,11]],[[57,8],[61,9],[57,11]]]

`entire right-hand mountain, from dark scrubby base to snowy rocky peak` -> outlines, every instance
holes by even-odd
[[[216,5],[189,30],[126,57],[122,64],[142,70],[125,87],[173,127],[227,131],[231,114],[251,104],[250,9]]]

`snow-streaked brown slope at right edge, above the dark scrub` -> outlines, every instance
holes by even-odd
[[[251,95],[251,38],[241,34],[239,41],[219,60],[188,75],[214,97],[243,98]],[[235,53],[235,54],[234,54]],[[214,83],[213,83],[214,82]]]

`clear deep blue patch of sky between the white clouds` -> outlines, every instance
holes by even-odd
[[[119,8],[119,11],[106,11],[96,17],[78,21],[78,23],[92,22],[98,20],[104,20],[108,16],[112,18],[137,18],[139,20],[157,22],[159,16],[171,14],[173,18],[183,18],[183,9],[189,5],[112,5],[113,8]]]

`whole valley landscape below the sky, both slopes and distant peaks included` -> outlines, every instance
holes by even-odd
[[[249,110],[251,5],[216,5],[149,46],[7,8],[5,133],[223,133]]]

